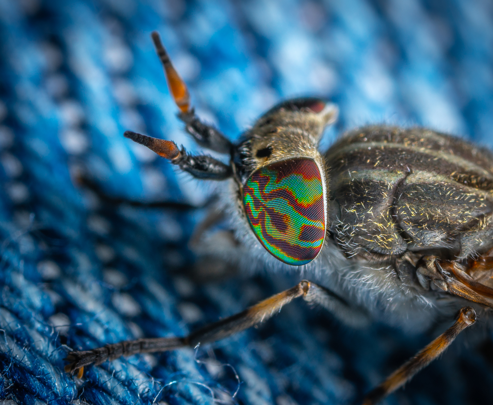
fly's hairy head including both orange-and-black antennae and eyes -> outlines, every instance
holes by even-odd
[[[318,98],[282,102],[261,116],[242,141],[233,145],[195,115],[186,85],[159,36],[153,33],[152,38],[185,130],[199,145],[230,154],[230,164],[206,155],[187,154],[172,141],[131,131],[125,136],[196,178],[233,177],[238,186],[238,206],[261,245],[290,265],[314,260],[322,249],[327,227],[327,176],[317,145],[324,128],[336,120],[337,107]]]

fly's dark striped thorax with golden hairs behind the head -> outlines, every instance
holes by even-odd
[[[353,131],[325,155],[330,227],[350,254],[493,246],[493,158],[421,128]]]

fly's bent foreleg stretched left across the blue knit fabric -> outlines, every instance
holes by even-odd
[[[338,298],[323,287],[307,280],[301,281],[293,288],[283,291],[260,301],[258,304],[207,325],[185,337],[158,337],[149,339],[127,340],[120,343],[108,344],[104,347],[86,351],[74,351],[67,355],[65,371],[74,374],[90,364],[101,364],[106,360],[113,360],[120,356],[130,356],[137,353],[163,352],[175,350],[182,347],[195,347],[200,343],[213,342],[224,339],[237,332],[243,331],[254,325],[260,324],[279,312],[283,305],[293,299],[303,296],[311,303],[320,304],[325,307],[337,305]]]

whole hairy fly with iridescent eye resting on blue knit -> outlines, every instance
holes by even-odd
[[[84,367],[120,356],[216,341],[267,320],[297,297],[352,325],[387,316],[423,330],[438,315],[452,321],[456,314],[447,331],[366,396],[364,404],[375,404],[474,324],[476,311],[493,308],[488,150],[428,129],[377,125],[348,132],[322,155],[318,141],[338,109],[318,98],[282,102],[233,144],[195,114],[156,32],[152,39],[186,131],[230,161],[131,131],[125,137],[195,178],[225,182],[222,210],[239,246],[228,256],[238,265],[297,268],[310,280],[185,337],[70,352],[67,372],[82,375]]]

